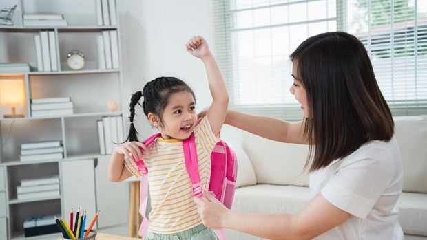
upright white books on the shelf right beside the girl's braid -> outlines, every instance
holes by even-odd
[[[114,150],[114,143],[125,141],[123,132],[123,117],[108,116],[97,120],[99,150],[101,154],[110,154]]]

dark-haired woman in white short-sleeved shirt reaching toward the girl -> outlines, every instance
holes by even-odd
[[[309,144],[313,199],[298,215],[259,215],[228,210],[204,193],[206,199],[194,199],[203,223],[267,239],[404,239],[395,206],[402,193],[401,155],[364,45],[351,34],[328,32],[306,39],[291,61],[290,90],[304,120],[229,111],[225,123]]]

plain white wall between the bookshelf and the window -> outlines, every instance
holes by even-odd
[[[196,94],[197,109],[211,103],[205,67],[185,50],[185,43],[201,35],[213,45],[213,0],[117,1],[123,59],[123,109],[128,114],[130,94],[143,89],[158,76],[176,76]],[[212,49],[213,47],[211,47]],[[215,54],[215,52],[213,52]],[[140,111],[137,130],[142,138],[150,134]],[[227,134],[226,127],[222,136]]]

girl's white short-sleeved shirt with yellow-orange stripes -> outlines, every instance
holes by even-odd
[[[194,129],[203,189],[209,187],[211,152],[220,140],[203,118]],[[196,203],[193,201],[192,184],[185,168],[182,140],[158,138],[143,153],[148,168],[149,195],[152,211],[149,213],[150,232],[171,234],[202,224]],[[141,173],[134,161],[125,158],[125,166],[136,177]]]

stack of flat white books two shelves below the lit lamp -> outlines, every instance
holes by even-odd
[[[22,179],[21,186],[17,186],[18,200],[59,195],[59,177],[57,175],[39,179]]]

